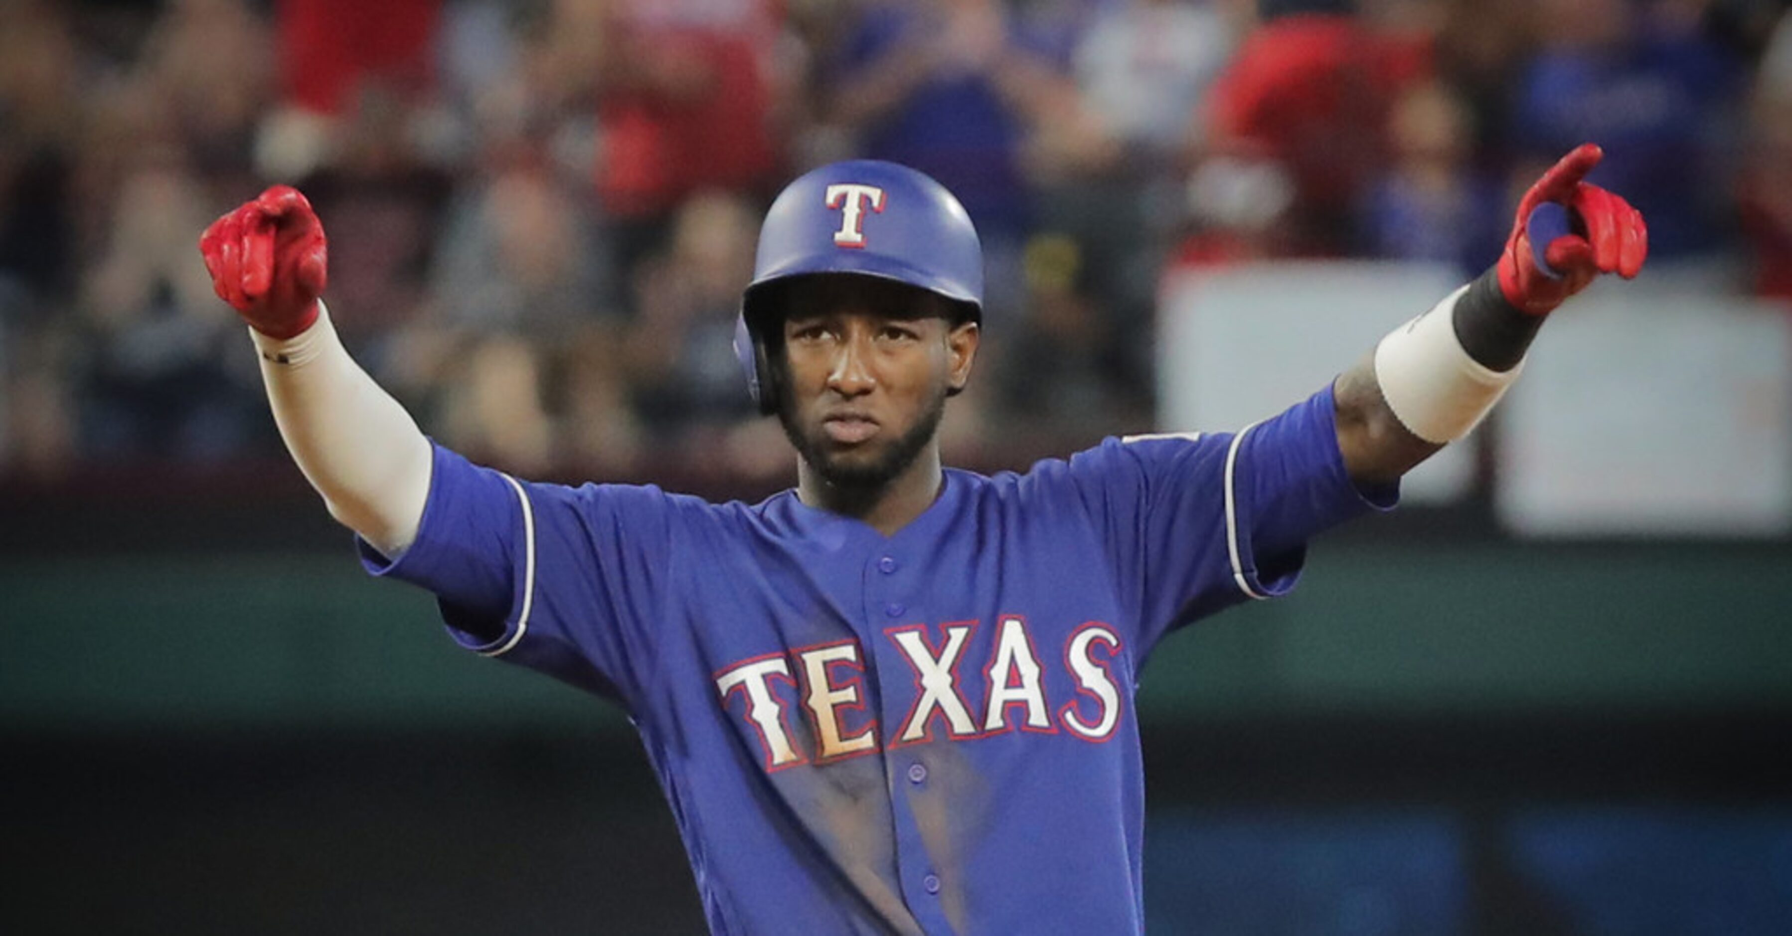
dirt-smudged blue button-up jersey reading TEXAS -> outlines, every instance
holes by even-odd
[[[1138,932],[1150,649],[1394,497],[1346,477],[1330,389],[1238,434],[946,470],[891,536],[790,491],[434,470],[416,543],[369,568],[627,708],[710,927],[765,934]]]

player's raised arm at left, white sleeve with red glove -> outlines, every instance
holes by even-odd
[[[199,238],[211,287],[251,326],[280,436],[330,515],[396,556],[416,538],[430,443],[330,325],[328,246],[312,204],[276,185]]]

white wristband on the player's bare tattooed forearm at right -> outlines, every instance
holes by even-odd
[[[1374,348],[1374,378],[1400,423],[1428,443],[1468,436],[1525,369],[1495,371],[1462,350],[1455,335],[1455,303],[1462,287],[1430,312],[1401,325]]]

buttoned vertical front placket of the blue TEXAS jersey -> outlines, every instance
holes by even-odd
[[[878,674],[878,708],[883,735],[883,776],[889,782],[891,816],[896,823],[896,875],[903,900],[928,932],[950,932],[941,909],[941,891],[955,882],[944,880],[928,854],[914,814],[916,796],[932,796],[928,767],[928,737],[903,741],[901,733],[914,708],[926,692],[923,674],[898,642],[921,640],[937,651],[937,633],[926,617],[918,588],[919,563],[910,561],[892,543],[883,542],[866,559],[864,620],[867,662]],[[937,654],[935,654],[937,656]],[[928,733],[930,735],[930,733]]]

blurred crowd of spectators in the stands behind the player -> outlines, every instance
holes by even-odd
[[[297,185],[355,357],[538,473],[788,470],[731,351],[760,212],[887,158],[973,215],[961,459],[1152,423],[1159,285],[1498,255],[1582,140],[1650,276],[1792,299],[1779,0],[0,0],[0,475],[278,452],[199,231]],[[1340,366],[1348,360],[1340,360]]]

